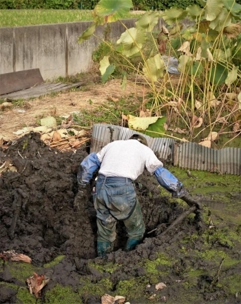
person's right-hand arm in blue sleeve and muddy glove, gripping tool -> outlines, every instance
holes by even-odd
[[[154,175],[156,176],[158,183],[167,191],[171,192],[172,197],[180,198],[189,206],[196,205],[198,209],[202,209],[202,205],[198,201],[194,201],[192,199],[187,190],[184,188],[184,185],[182,185],[176,176],[171,174],[169,170],[160,167],[155,170]]]

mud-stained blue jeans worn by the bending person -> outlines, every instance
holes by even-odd
[[[114,242],[117,220],[125,224],[129,239],[143,239],[145,224],[134,184],[130,179],[108,178],[100,174],[93,199],[97,216],[97,241]]]

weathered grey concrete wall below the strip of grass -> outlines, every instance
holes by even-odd
[[[124,22],[132,28],[134,21]],[[0,74],[39,68],[43,79],[54,79],[87,72],[92,65],[92,52],[100,41],[91,37],[79,44],[77,40],[90,24],[91,21],[0,28]],[[109,25],[111,39],[125,32],[119,22]],[[96,36],[103,37],[104,30],[104,26],[98,26]]]

